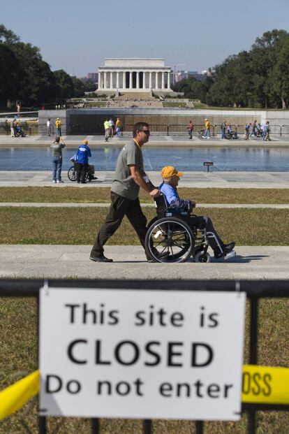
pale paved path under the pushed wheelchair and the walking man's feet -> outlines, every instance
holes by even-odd
[[[148,263],[140,246],[106,246],[113,263],[89,260],[86,245],[0,245],[1,278],[289,279],[289,247],[236,247],[224,262]]]

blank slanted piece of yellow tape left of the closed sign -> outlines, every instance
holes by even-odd
[[[0,420],[17,412],[39,392],[39,370],[0,392]]]

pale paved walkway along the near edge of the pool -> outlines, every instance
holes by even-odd
[[[155,185],[161,182],[159,172],[147,174]],[[97,180],[87,184],[77,184],[68,180],[62,173],[64,184],[54,188],[110,187],[114,172],[99,171]],[[47,187],[52,186],[51,171],[0,171],[0,187]],[[181,178],[180,187],[195,188],[289,188],[289,172],[186,172]]]

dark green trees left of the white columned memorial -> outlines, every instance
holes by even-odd
[[[21,101],[22,106],[62,103],[96,89],[63,69],[51,71],[38,47],[23,43],[13,31],[0,24],[0,107]]]

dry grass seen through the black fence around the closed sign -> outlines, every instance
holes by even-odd
[[[247,305],[247,308],[249,304]],[[0,303],[0,390],[38,368],[37,314],[33,298],[1,298]],[[288,299],[260,301],[259,363],[265,366],[288,364]],[[269,342],[269,345],[268,345]],[[244,363],[248,362],[249,310],[246,312]],[[49,417],[48,433],[89,434],[90,421]],[[30,431],[24,427],[24,423]],[[288,412],[258,412],[259,434],[288,434]],[[0,434],[37,432],[37,400],[0,422]],[[138,420],[101,419],[101,434],[141,434]],[[191,421],[154,421],[154,434],[191,434]],[[246,414],[239,422],[206,422],[205,434],[246,434]]]

